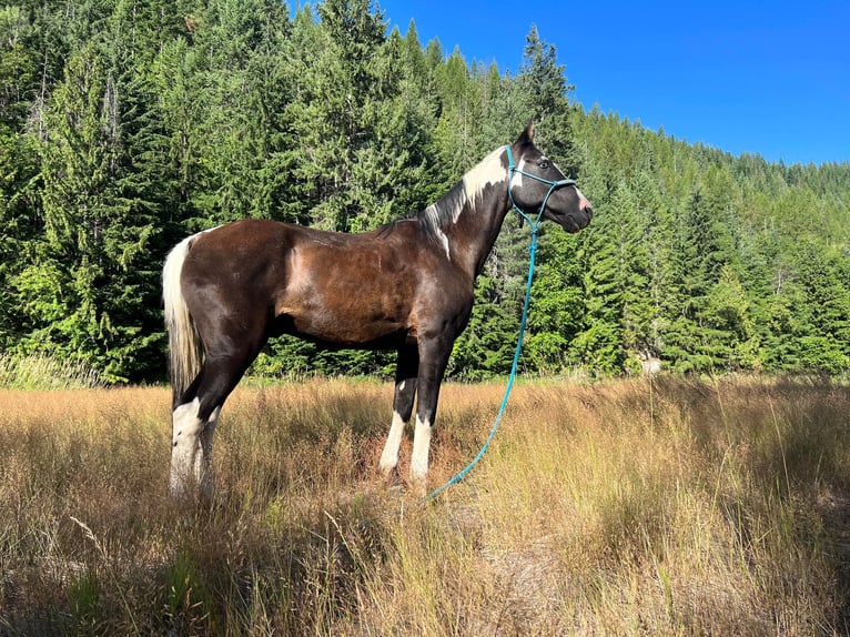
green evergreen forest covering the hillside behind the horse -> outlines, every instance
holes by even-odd
[[[595,215],[575,235],[544,225],[526,373],[657,357],[682,374],[847,374],[850,164],[732,156],[588,111],[530,24],[515,72],[387,24],[371,0],[0,6],[0,356],[163,381],[160,272],[181,239],[243,218],[375,228],[534,120]],[[508,216],[451,377],[509,370],[528,244]],[[253,372],[393,362],[280,338]]]

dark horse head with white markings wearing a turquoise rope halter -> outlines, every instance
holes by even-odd
[[[566,179],[555,162],[534,145],[534,123],[507,146],[508,195],[514,208],[528,219],[548,219],[567,232],[578,232],[590,223],[594,209],[576,182]],[[532,212],[535,211],[535,212]]]

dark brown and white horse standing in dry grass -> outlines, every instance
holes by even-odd
[[[437,202],[347,234],[246,219],[175,245],[163,267],[172,384],[173,497],[213,495],[212,442],[222,405],[266,341],[397,352],[393,415],[378,463],[396,471],[416,421],[409,482],[426,489],[428,448],[452,346],[510,210],[539,209],[578,232],[593,208],[534,145],[534,123],[464,174]]]

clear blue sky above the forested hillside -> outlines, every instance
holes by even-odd
[[[536,24],[586,109],[732,154],[850,162],[850,2],[377,0],[402,34],[516,71]]]

